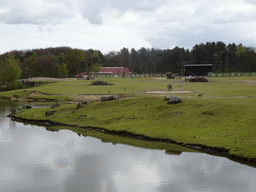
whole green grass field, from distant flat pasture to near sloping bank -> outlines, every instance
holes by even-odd
[[[16,116],[223,148],[229,150],[231,156],[256,161],[256,78],[210,78],[207,83],[170,80],[173,92],[181,91],[173,93],[183,101],[175,105],[164,100],[163,95],[167,93],[145,94],[147,90],[167,91],[167,79],[104,80],[115,85],[91,86],[90,81],[80,80],[60,81],[34,89],[46,96],[66,98],[76,94],[108,94],[108,91],[130,97],[89,102],[79,109],[76,104],[61,104],[55,114],[47,117],[45,112],[50,108],[22,110]],[[8,94],[11,97],[18,92],[21,90],[0,93],[0,97]],[[198,97],[199,93],[204,95]]]

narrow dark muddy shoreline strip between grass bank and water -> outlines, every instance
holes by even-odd
[[[9,114],[8,115],[9,118],[11,118],[14,121],[17,122],[22,122],[22,123],[31,123],[31,124],[35,124],[35,125],[46,125],[46,126],[64,126],[64,127],[74,127],[74,128],[81,128],[81,129],[88,129],[88,130],[94,130],[94,131],[99,131],[101,133],[107,133],[107,134],[113,134],[113,135],[121,135],[121,136],[126,136],[126,137],[132,137],[132,138],[136,138],[136,139],[142,139],[142,140],[147,140],[147,141],[157,141],[157,142],[165,142],[165,143],[171,143],[171,144],[176,144],[176,145],[180,145],[183,147],[187,147],[187,148],[191,148],[191,149],[195,149],[198,151],[202,151],[205,152],[207,154],[210,155],[218,155],[218,156],[222,156],[222,157],[226,157],[232,161],[236,161],[242,164],[249,164],[250,166],[256,167],[256,159],[252,159],[249,160],[247,158],[241,157],[241,156],[236,156],[236,155],[230,155],[228,152],[228,149],[224,149],[224,148],[218,148],[218,147],[210,147],[210,146],[206,146],[206,145],[201,145],[201,144],[191,144],[191,143],[183,143],[183,142],[176,142],[174,140],[171,139],[165,139],[165,138],[152,138],[152,137],[148,137],[145,135],[141,135],[141,134],[134,134],[134,133],[130,133],[127,131],[110,131],[101,127],[92,127],[92,126],[77,126],[77,125],[69,125],[69,124],[63,124],[63,123],[59,123],[59,122],[52,122],[52,121],[38,121],[38,120],[28,120],[28,119],[24,119],[24,118],[17,118],[15,117],[13,114]]]

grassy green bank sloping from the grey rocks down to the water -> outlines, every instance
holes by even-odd
[[[201,144],[228,150],[247,160],[256,159],[256,104],[253,99],[183,99],[170,105],[162,97],[143,97],[108,102],[90,102],[77,109],[63,104],[22,110],[16,117],[51,121],[76,127],[99,127],[184,144]]]

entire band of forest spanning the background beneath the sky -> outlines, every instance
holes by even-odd
[[[128,67],[132,73],[184,75],[186,64],[213,64],[214,73],[255,72],[256,50],[242,44],[219,42],[196,44],[192,50],[121,49],[103,55],[99,50],[70,47],[11,51],[0,55],[0,87],[17,88],[14,79],[28,77],[75,77],[93,66]]]

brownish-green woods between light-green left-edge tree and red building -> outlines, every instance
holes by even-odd
[[[28,51],[12,51],[2,55],[15,55],[22,71],[21,78],[27,77],[74,77],[77,73],[94,64],[104,61],[98,50],[80,50],[69,47],[35,49]]]

